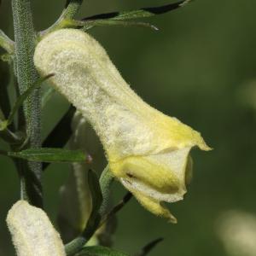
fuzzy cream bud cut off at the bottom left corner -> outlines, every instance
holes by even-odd
[[[60,235],[43,210],[17,201],[6,221],[18,256],[66,255]]]

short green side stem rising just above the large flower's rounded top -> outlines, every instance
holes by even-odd
[[[65,20],[72,20],[75,15],[79,12],[79,9],[82,5],[84,0],[70,0],[67,2],[66,8],[61,13],[61,16],[59,19],[48,29],[44,30],[43,32],[40,32],[40,37],[44,37],[49,32],[54,32],[55,30],[67,27],[67,23]]]

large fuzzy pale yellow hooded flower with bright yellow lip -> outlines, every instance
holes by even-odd
[[[160,201],[183,198],[189,150],[200,133],[150,107],[131,90],[94,38],[74,29],[49,34],[34,55],[39,73],[96,130],[113,174],[150,212],[175,218]]]

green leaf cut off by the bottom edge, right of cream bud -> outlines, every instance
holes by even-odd
[[[129,256],[127,253],[114,250],[109,247],[84,247],[84,249],[76,254],[76,256]]]

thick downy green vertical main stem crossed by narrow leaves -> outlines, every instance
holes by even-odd
[[[36,35],[33,28],[30,2],[30,0],[12,0],[15,27],[15,70],[20,94],[26,91],[38,79],[38,73],[33,64]],[[40,91],[35,90],[24,102],[26,133],[30,138],[29,145],[32,148],[40,148],[41,146],[40,112]],[[34,179],[26,177],[26,170],[19,170],[23,187],[26,187],[26,192],[32,205],[42,207],[41,164],[35,162],[28,163],[28,168],[30,173],[33,173],[37,183],[34,182]],[[24,190],[21,189],[21,194],[23,193],[22,191]],[[25,195],[21,195],[21,197],[26,198]],[[35,198],[37,199],[36,201],[33,200]]]

